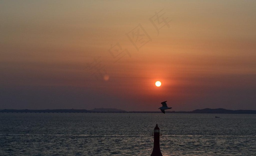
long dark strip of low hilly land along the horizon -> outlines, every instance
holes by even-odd
[[[161,111],[125,111],[111,108],[85,109],[46,109],[46,110],[16,110],[4,109],[0,113],[162,113]],[[227,109],[197,109],[193,111],[166,111],[165,113],[194,113],[194,114],[256,114],[256,110],[227,110]]]

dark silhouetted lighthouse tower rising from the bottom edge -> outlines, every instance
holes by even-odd
[[[155,126],[154,134],[152,135],[154,136],[154,148],[150,156],[163,156],[160,150],[160,129],[158,126]]]

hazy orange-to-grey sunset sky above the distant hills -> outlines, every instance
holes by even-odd
[[[0,109],[256,110],[255,8],[1,0]]]

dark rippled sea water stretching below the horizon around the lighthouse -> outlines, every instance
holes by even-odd
[[[0,113],[0,155],[150,156],[156,123],[164,156],[256,156],[255,114],[136,113]]]

